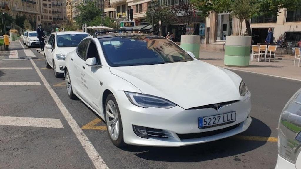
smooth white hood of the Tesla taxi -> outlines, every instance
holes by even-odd
[[[200,60],[110,67],[110,71],[141,93],[165,98],[184,109],[240,100],[241,78]]]

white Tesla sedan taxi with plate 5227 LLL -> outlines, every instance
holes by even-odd
[[[157,35],[89,36],[67,54],[67,93],[105,119],[115,146],[185,146],[245,131],[245,83],[192,56]]]

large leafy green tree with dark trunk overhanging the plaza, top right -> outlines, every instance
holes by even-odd
[[[279,9],[296,9],[301,5],[300,0],[191,0],[193,5],[202,12],[204,17],[210,13],[224,13],[235,11],[240,18],[245,18],[248,34],[251,35],[249,19],[255,16],[271,16],[277,14]],[[242,4],[249,4],[242,6]],[[240,10],[237,5],[240,5]],[[250,7],[251,9],[247,9]],[[257,7],[257,10],[254,8]],[[234,14],[234,16],[236,16]],[[243,17],[242,17],[243,16]]]

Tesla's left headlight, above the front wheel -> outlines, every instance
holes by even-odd
[[[126,94],[129,101],[133,105],[136,105],[139,107],[144,107],[144,108],[158,107],[158,108],[169,109],[169,108],[176,106],[175,103],[172,103],[171,101],[160,98],[160,97],[151,96],[151,95],[147,95],[147,94],[141,94],[141,93],[133,93],[133,92],[128,92],[128,91],[125,91],[124,93]]]

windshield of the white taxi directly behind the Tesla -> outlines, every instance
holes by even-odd
[[[70,34],[70,35],[57,35],[57,46],[58,47],[73,47],[77,46],[83,38],[87,37],[88,34]]]

